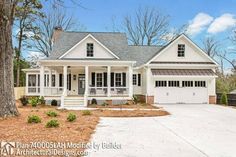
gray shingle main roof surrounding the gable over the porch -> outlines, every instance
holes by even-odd
[[[91,34],[123,61],[136,61],[140,66],[154,57],[160,50],[159,46],[129,46],[125,33],[118,32],[61,32],[54,43],[51,55],[46,60],[59,59],[74,45]],[[76,59],[76,58],[75,58]]]

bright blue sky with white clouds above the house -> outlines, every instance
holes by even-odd
[[[153,7],[170,16],[170,28],[188,24],[188,35],[202,47],[206,36],[213,36],[223,48],[234,46],[227,37],[236,23],[236,0],[79,0],[82,7],[65,5],[86,31],[112,31],[112,18],[120,24],[123,17],[139,7]],[[235,56],[233,56],[235,57]]]

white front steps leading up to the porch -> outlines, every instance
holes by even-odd
[[[64,107],[85,107],[83,97],[65,97]]]

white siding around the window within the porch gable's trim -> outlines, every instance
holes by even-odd
[[[87,57],[87,43],[93,43],[94,57]],[[114,56],[99,43],[97,43],[93,38],[88,37],[63,58],[114,58]]]

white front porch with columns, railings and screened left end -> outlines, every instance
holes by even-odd
[[[132,73],[131,65],[41,65],[36,71],[27,71],[26,95],[58,97],[62,107],[70,98],[83,99],[84,106],[92,98],[131,99]]]

